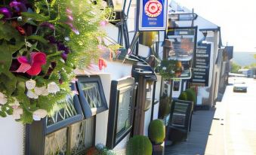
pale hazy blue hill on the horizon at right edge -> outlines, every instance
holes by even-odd
[[[256,63],[256,59],[253,57],[254,54],[256,54],[256,52],[234,52],[233,62],[241,66],[251,65],[251,63]]]

